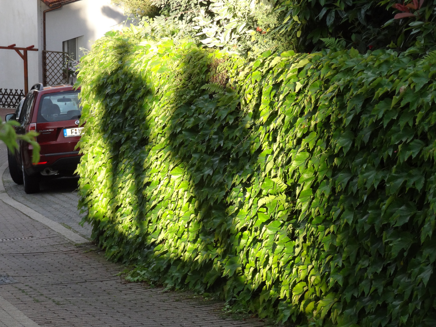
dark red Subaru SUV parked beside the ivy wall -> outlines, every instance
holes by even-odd
[[[16,119],[20,126],[17,134],[35,130],[41,146],[41,158],[32,164],[32,146],[19,141],[19,149],[12,154],[9,150],[9,172],[17,184],[24,183],[26,193],[39,191],[41,177],[74,176],[80,161],[75,149],[83,127],[79,126],[82,114],[78,95],[71,85],[44,87],[38,83],[17,106],[14,113],[6,115],[6,121]]]

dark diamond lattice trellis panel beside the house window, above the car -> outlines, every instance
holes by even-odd
[[[44,86],[68,83],[67,55],[61,51],[42,51]]]

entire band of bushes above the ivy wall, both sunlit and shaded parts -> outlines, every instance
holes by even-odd
[[[266,50],[319,51],[327,38],[361,53],[391,48],[415,58],[436,47],[436,0],[125,2],[143,16],[140,25],[149,36],[194,41],[249,58]],[[394,19],[398,14],[406,17]]]

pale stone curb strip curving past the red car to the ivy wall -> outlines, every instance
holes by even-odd
[[[10,205],[11,207],[17,209],[18,211],[21,211],[24,213],[24,215],[39,221],[41,224],[46,225],[48,228],[51,228],[55,232],[58,232],[59,234],[65,236],[70,241],[73,241],[75,243],[88,243],[89,240],[86,238],[83,238],[80,235],[77,235],[75,232],[70,231],[68,228],[65,228],[61,224],[59,224],[56,221],[51,220],[50,218],[45,217],[44,215],[41,215],[39,212],[34,211],[33,209],[27,207],[26,205],[15,201],[13,198],[11,198],[7,193],[3,185],[3,176],[4,171],[9,167],[8,162],[6,161],[3,165],[0,166],[0,200],[4,203]]]

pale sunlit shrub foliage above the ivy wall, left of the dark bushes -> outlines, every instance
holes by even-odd
[[[272,33],[283,20],[283,13],[274,10],[274,2],[129,0],[125,3],[130,11],[138,13],[138,30],[147,39],[169,37],[175,44],[192,41],[197,46],[219,48],[223,53],[249,58],[266,50],[282,52],[294,48],[295,38],[290,33]],[[145,9],[138,10],[140,5]],[[150,10],[146,8],[153,9],[151,14],[147,14]]]

